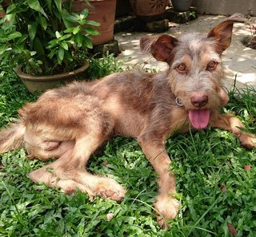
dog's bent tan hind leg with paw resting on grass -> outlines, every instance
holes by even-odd
[[[74,147],[68,148],[58,160],[30,172],[30,179],[52,188],[60,188],[66,193],[75,192],[78,188],[87,192],[90,198],[101,196],[106,199],[122,199],[126,191],[120,184],[107,177],[91,175],[85,170],[90,155],[104,142],[102,137],[102,134],[95,132],[81,134]]]

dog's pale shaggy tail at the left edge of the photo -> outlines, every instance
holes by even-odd
[[[22,147],[26,128],[22,121],[11,124],[0,132],[0,153]]]

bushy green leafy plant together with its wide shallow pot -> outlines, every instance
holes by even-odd
[[[87,9],[71,13],[70,2],[13,0],[0,20],[0,60],[32,93],[70,81],[89,65],[90,36],[98,34],[92,27],[100,24],[87,19]]]

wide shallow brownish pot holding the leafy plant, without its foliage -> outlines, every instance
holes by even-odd
[[[34,93],[37,90],[46,90],[52,89],[54,87],[58,87],[59,85],[63,85],[69,83],[70,81],[74,81],[75,79],[79,79],[82,77],[82,74],[89,67],[89,62],[86,61],[82,67],[68,73],[60,73],[50,76],[32,76],[27,73],[23,73],[21,67],[17,67],[14,69],[14,72],[22,79],[22,82],[25,84],[26,89],[30,91],[30,93]]]

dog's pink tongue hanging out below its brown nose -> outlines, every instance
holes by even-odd
[[[210,119],[209,109],[190,109],[189,110],[190,122],[194,128],[206,128]]]

